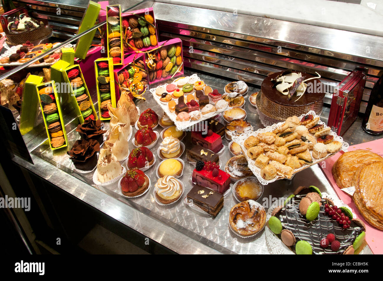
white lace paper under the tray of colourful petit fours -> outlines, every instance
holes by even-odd
[[[197,74],[193,74],[193,75],[187,76],[187,77],[197,79],[197,81],[201,80],[200,77],[197,76]],[[177,79],[179,79],[179,77]],[[175,79],[175,80],[177,80],[177,79]],[[168,85],[168,84],[163,84],[160,86],[166,87],[166,85]],[[160,86],[158,86],[158,87],[160,87]],[[185,130],[186,128],[188,128],[190,126],[193,126],[197,123],[200,123],[201,121],[204,121],[204,120],[207,120],[211,117],[214,117],[214,116],[218,115],[219,113],[224,112],[225,110],[228,109],[228,107],[225,107],[225,108],[222,108],[221,110],[217,110],[216,112],[212,112],[212,113],[207,114],[205,116],[202,115],[202,117],[198,120],[177,121],[176,120],[177,114],[175,114],[175,112],[170,112],[168,105],[160,102],[160,97],[155,94],[155,89],[156,88],[153,88],[153,89],[150,89],[149,91],[152,93],[154,100],[160,105],[162,110],[164,110],[164,112],[166,112],[166,114],[169,116],[169,118],[174,122],[174,125],[177,127],[178,130]],[[186,102],[185,102],[185,104],[186,104]],[[200,110],[200,112],[201,112],[201,110]]]

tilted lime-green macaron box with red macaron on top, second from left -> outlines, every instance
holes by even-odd
[[[87,84],[78,64],[65,69],[64,80],[70,84],[70,99],[82,124],[87,118],[97,120],[96,110],[93,106]]]

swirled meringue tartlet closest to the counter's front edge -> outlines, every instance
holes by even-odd
[[[182,194],[182,185],[173,176],[164,176],[157,180],[155,186],[155,198],[162,204],[170,204],[177,201]]]

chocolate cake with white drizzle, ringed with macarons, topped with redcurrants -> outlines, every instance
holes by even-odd
[[[313,254],[353,254],[364,241],[364,223],[348,217],[352,216],[348,208],[341,207],[348,212],[344,209],[337,211],[338,207],[334,206],[332,200],[322,198],[319,189],[314,187],[316,192],[312,192],[312,188],[298,187],[295,196],[290,196],[285,206],[275,208],[272,212],[274,216],[268,222],[270,230],[283,243],[289,244],[294,253],[302,253],[302,248],[296,248],[301,241],[301,245],[308,247],[308,243],[312,247]],[[344,215],[346,222],[343,220],[339,223],[336,218],[333,219],[333,215],[329,215],[331,210],[334,210],[335,217]],[[334,240],[338,242],[334,243]]]

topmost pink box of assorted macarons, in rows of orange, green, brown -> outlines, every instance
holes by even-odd
[[[149,51],[159,46],[153,8],[122,14],[124,53]]]

